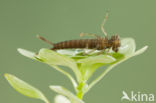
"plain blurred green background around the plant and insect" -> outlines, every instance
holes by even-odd
[[[137,49],[144,45],[149,45],[149,49],[114,68],[84,100],[120,103],[123,90],[156,95],[155,5],[155,0],[0,0],[0,103],[43,103],[13,90],[4,73],[39,88],[51,103],[56,94],[49,85],[63,85],[73,91],[64,75],[21,56],[17,48],[35,52],[49,48],[36,39],[37,34],[52,42],[79,39],[81,32],[104,36],[100,25],[107,9],[110,15],[105,28],[109,36],[118,33],[121,37],[133,37]]]

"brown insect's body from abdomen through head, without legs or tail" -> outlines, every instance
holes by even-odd
[[[120,39],[118,35],[112,36],[111,39],[107,37],[97,37],[96,39],[80,39],[80,40],[68,40],[53,44],[52,50],[58,49],[76,49],[76,48],[88,48],[105,50],[112,48],[113,51],[117,52],[120,47]]]

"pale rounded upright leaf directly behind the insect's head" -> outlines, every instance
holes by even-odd
[[[121,39],[121,46],[119,48],[119,53],[125,56],[131,55],[135,52],[136,44],[133,38],[123,38]]]

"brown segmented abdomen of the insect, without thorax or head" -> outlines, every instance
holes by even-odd
[[[80,40],[69,40],[54,44],[52,50],[57,49],[72,49],[72,48],[96,48],[98,39],[80,39]]]

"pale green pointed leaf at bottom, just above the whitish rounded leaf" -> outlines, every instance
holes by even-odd
[[[82,100],[77,98],[73,93],[71,93],[70,91],[68,91],[67,89],[61,86],[50,86],[50,89],[55,91],[58,94],[68,97],[71,103],[84,103]]]

